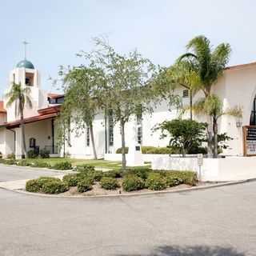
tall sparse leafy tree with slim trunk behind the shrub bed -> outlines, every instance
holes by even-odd
[[[101,66],[105,83],[98,90],[100,105],[111,110],[114,122],[120,124],[122,136],[122,168],[126,168],[126,122],[134,115],[152,111],[150,101],[154,93],[150,82],[155,77],[155,66],[142,58],[137,50],[129,54],[118,54],[108,43],[96,39],[94,65]]]

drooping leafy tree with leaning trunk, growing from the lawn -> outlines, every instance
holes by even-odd
[[[63,78],[65,100],[60,114],[60,128],[62,138],[66,140],[66,131],[70,129],[70,123],[74,123],[74,130],[77,134],[90,128],[90,140],[97,159],[97,151],[94,142],[93,121],[98,114],[99,104],[96,97],[99,86],[104,83],[104,75],[100,68],[91,66],[74,67],[67,72],[62,68],[60,74]]]

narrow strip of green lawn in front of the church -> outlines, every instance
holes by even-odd
[[[122,163],[118,161],[106,161],[106,160],[87,160],[87,159],[74,159],[74,158],[35,158],[28,159],[30,162],[48,162],[53,166],[57,162],[69,161],[72,163],[72,166],[79,166],[83,164],[95,166],[98,168],[118,170],[121,168]],[[147,164],[146,167],[149,167],[150,164]]]

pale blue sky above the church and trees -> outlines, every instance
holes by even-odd
[[[24,39],[27,59],[51,91],[48,78],[57,77],[58,66],[82,63],[75,54],[101,35],[119,52],[137,48],[163,66],[199,34],[214,46],[229,42],[230,65],[256,61],[254,0],[0,0],[0,31],[0,94],[23,58]]]

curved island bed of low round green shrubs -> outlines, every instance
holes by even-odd
[[[62,181],[39,178],[26,182],[26,190],[35,193],[65,195],[127,194],[198,185],[191,171],[158,171],[148,168],[102,172],[93,166],[82,166],[77,174],[66,174]]]

